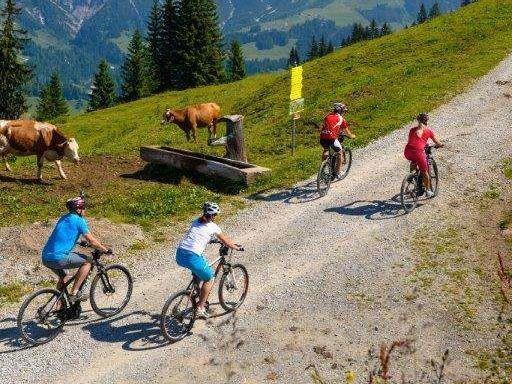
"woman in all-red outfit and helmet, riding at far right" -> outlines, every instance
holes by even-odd
[[[443,144],[441,144],[434,132],[427,126],[428,115],[426,113],[420,113],[416,119],[419,124],[417,127],[411,128],[409,131],[409,141],[405,146],[404,156],[411,162],[411,172],[415,167],[418,167],[423,178],[423,186],[426,191],[425,193],[427,197],[432,197],[434,196],[434,192],[431,190],[425,148],[429,139],[432,140],[439,148],[442,147]]]

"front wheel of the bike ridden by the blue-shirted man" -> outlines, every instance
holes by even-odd
[[[112,264],[99,272],[91,283],[91,307],[101,317],[121,312],[132,295],[130,272],[119,264]]]

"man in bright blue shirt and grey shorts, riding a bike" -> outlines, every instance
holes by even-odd
[[[50,268],[59,277],[57,288],[68,281],[72,275],[68,275],[66,269],[78,268],[76,279],[71,289],[70,300],[72,302],[88,299],[86,292],[79,292],[80,286],[91,270],[91,262],[86,255],[73,252],[78,239],[83,237],[92,247],[105,252],[112,251],[91,235],[87,221],[84,219],[85,199],[75,197],[66,202],[69,212],[62,216],[50,238],[46,242],[42,252],[42,261],[45,267]]]

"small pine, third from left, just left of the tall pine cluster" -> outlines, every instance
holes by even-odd
[[[89,98],[88,111],[112,107],[116,102],[116,84],[112,78],[110,66],[103,59],[94,75]]]

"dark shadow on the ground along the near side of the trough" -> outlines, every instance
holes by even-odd
[[[148,163],[144,168],[130,174],[122,174],[122,178],[151,181],[163,184],[180,185],[184,180],[190,180],[194,184],[202,185],[213,192],[236,195],[245,186],[242,183],[199,175],[168,165]]]

